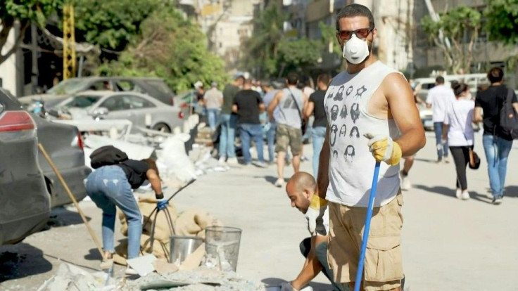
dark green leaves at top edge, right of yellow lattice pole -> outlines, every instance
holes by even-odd
[[[163,6],[160,0],[77,0],[75,33],[80,41],[122,51],[139,34],[141,22]]]

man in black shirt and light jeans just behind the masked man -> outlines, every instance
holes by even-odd
[[[315,115],[313,122],[313,176],[318,176],[318,162],[320,157],[320,150],[324,144],[324,137],[326,136],[327,117],[324,108],[324,97],[327,91],[327,85],[331,81],[331,77],[327,74],[322,74],[317,78],[318,90],[310,95],[310,102],[305,109],[305,117],[309,118]],[[347,112],[346,112],[347,114]]]

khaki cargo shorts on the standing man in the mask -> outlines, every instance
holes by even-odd
[[[367,291],[391,290],[401,285],[402,206],[403,195],[399,191],[396,198],[387,205],[374,207],[362,277]],[[365,207],[348,207],[329,202],[327,259],[336,283],[347,285],[356,280],[366,214]]]

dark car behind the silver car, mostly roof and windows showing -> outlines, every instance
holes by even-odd
[[[175,93],[161,78],[149,77],[80,77],[65,79],[46,91],[45,94],[25,96],[20,102],[30,105],[42,101],[49,108],[63,99],[82,91],[125,91],[144,93],[168,105],[174,105]],[[32,110],[32,108],[28,108]]]

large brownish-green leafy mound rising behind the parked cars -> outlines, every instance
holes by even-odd
[[[163,77],[176,92],[203,84],[227,82],[223,61],[206,48],[205,36],[172,8],[155,11],[141,23],[118,61],[99,67],[101,75]]]

